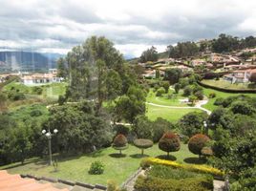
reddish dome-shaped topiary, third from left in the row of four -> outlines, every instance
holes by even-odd
[[[167,156],[169,157],[169,152],[180,150],[180,138],[174,133],[167,132],[160,138],[159,148],[160,150],[167,152]]]

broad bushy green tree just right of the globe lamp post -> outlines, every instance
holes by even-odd
[[[94,147],[101,148],[112,141],[109,118],[96,115],[93,102],[54,106],[50,114],[44,126],[61,132],[56,137],[61,152],[91,152]]]

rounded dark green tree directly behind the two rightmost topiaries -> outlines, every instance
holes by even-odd
[[[206,119],[206,113],[190,112],[181,117],[178,125],[181,128],[182,134],[190,138],[202,132],[203,121]]]

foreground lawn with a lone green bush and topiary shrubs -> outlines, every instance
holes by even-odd
[[[116,180],[118,184],[127,180],[139,168],[140,150],[130,145],[122,153],[125,157],[118,158],[117,150],[106,148],[94,154],[63,158],[58,161],[58,171],[54,172],[53,166],[48,166],[45,160],[31,159],[25,165],[13,163],[1,166],[0,169],[8,168],[11,174],[32,174],[35,176],[45,176],[64,180],[77,180],[88,183],[100,183],[106,185],[107,180]],[[160,151],[158,145],[145,150],[145,155],[158,157],[165,155]],[[172,154],[171,158],[179,162],[198,161],[198,156],[190,153],[187,145],[181,144],[181,150]],[[95,160],[101,160],[105,164],[105,171],[102,175],[89,175],[90,165]]]

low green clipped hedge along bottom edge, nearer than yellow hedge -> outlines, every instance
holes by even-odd
[[[137,191],[208,191],[213,189],[213,180],[209,177],[187,178],[182,180],[163,180],[139,176],[135,184]]]

